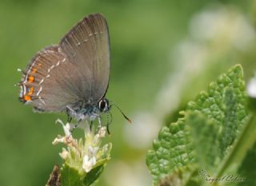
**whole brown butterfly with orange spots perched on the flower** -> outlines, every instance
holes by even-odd
[[[101,126],[101,114],[109,113],[111,108],[106,99],[109,80],[107,22],[102,14],[90,14],[58,45],[48,46],[35,54],[18,84],[21,88],[19,99],[38,112],[66,112],[69,122],[75,118],[78,123],[97,118]],[[122,115],[130,121],[124,113]]]

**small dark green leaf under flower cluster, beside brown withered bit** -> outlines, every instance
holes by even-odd
[[[74,168],[64,164],[61,169],[62,186],[83,186],[83,176]]]

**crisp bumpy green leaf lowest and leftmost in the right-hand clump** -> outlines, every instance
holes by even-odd
[[[150,168],[154,184],[170,172],[194,162],[187,133],[184,120],[179,119],[169,127],[163,127],[158,140],[154,140],[154,150],[150,150],[146,157],[146,164]]]

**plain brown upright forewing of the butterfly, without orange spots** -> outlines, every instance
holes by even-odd
[[[104,97],[110,77],[110,41],[105,18],[91,14],[74,26],[60,42],[62,51],[82,73],[84,101]]]

